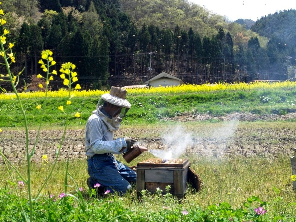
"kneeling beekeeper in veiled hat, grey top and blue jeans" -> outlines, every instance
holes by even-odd
[[[87,185],[98,187],[102,192],[109,190],[123,194],[136,182],[136,173],[113,155],[127,152],[137,142],[134,138],[113,139],[114,132],[131,107],[125,97],[125,89],[111,87],[109,93],[101,96],[97,109],[86,122]]]

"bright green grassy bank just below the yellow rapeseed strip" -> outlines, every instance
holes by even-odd
[[[156,123],[163,117],[175,117],[185,112],[223,116],[229,113],[245,112],[258,115],[279,114],[289,112],[293,107],[296,92],[294,90],[252,91],[252,92],[215,92],[191,93],[163,96],[128,96],[131,109],[123,120],[123,124]],[[57,109],[64,105],[66,99],[48,98],[47,107],[38,110],[37,104],[42,99],[27,99],[23,106],[27,110],[29,127],[39,125],[43,115],[43,125],[63,126],[65,114]],[[96,109],[97,98],[72,98],[72,104],[64,105],[69,113],[69,125],[85,125],[91,111]],[[76,112],[81,118],[75,118]],[[37,118],[38,117],[38,118]],[[9,120],[9,121],[7,121]],[[4,127],[23,127],[23,116],[19,112],[19,104],[14,100],[0,101],[0,125]]]

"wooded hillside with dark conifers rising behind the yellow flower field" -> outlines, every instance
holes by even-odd
[[[287,38],[263,37],[187,0],[11,0],[1,6],[7,38],[16,42],[11,68],[26,67],[23,78],[31,85],[31,76],[42,72],[43,49],[53,51],[57,70],[63,62],[76,64],[86,89],[142,84],[162,71],[195,84],[295,75]]]

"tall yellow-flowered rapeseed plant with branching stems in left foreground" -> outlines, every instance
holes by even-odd
[[[1,2],[0,2],[1,4]],[[5,19],[1,18],[1,15],[3,15],[3,10],[0,9],[0,26],[2,26],[3,24],[6,23]],[[3,29],[1,29],[3,30]],[[42,120],[43,120],[43,115],[40,116],[40,125],[39,125],[39,129],[38,129],[38,133],[36,136],[36,140],[35,140],[35,144],[33,146],[33,148],[29,148],[29,130],[28,130],[28,124],[27,124],[27,117],[26,117],[26,113],[25,113],[25,109],[23,107],[23,103],[22,103],[22,99],[23,97],[20,96],[22,95],[22,93],[17,92],[16,90],[16,86],[19,83],[19,76],[21,75],[22,71],[19,72],[18,74],[14,74],[12,72],[10,72],[10,65],[12,63],[15,63],[15,57],[14,57],[14,53],[12,51],[13,47],[14,47],[14,43],[7,43],[7,38],[6,35],[9,34],[9,31],[4,29],[4,31],[2,33],[0,33],[0,56],[3,57],[4,63],[0,63],[1,65],[4,65],[6,67],[6,71],[7,74],[0,74],[0,81],[7,81],[11,83],[14,95],[10,96],[10,99],[16,99],[19,103],[19,107],[20,107],[20,111],[21,114],[23,116],[24,119],[24,127],[25,127],[25,140],[26,140],[26,158],[27,158],[27,175],[23,176],[16,167],[14,167],[14,165],[5,157],[5,155],[2,152],[2,149],[0,149],[0,155],[2,156],[4,163],[6,165],[7,171],[10,175],[11,178],[11,184],[14,186],[18,200],[19,200],[19,204],[21,207],[21,212],[23,214],[23,220],[24,221],[33,221],[33,202],[38,199],[40,192],[43,190],[43,188],[45,187],[45,185],[47,184],[49,178],[52,175],[52,172],[54,170],[54,168],[56,167],[56,163],[58,160],[58,155],[60,153],[60,149],[62,147],[63,141],[64,141],[64,135],[66,132],[66,128],[67,128],[67,121],[68,121],[68,114],[67,114],[67,120],[66,120],[66,125],[65,125],[65,130],[64,130],[64,134],[62,136],[61,139],[61,143],[58,146],[58,149],[56,150],[55,153],[55,162],[51,168],[51,170],[49,171],[49,173],[47,174],[47,177],[45,179],[45,182],[41,185],[41,188],[38,189],[38,194],[36,195],[35,198],[33,198],[32,196],[32,192],[31,192],[31,158],[32,156],[35,154],[35,149],[36,149],[36,145],[39,139],[39,133],[40,133],[40,129],[41,129],[41,124],[42,124]],[[43,70],[43,72],[45,72],[45,74],[37,74],[37,78],[41,78],[44,79],[45,84],[39,84],[40,88],[44,88],[44,92],[42,94],[42,97],[44,97],[44,102],[43,104],[37,104],[36,105],[36,109],[40,110],[40,114],[42,114],[42,107],[46,106],[46,102],[47,102],[47,96],[48,96],[48,85],[50,83],[50,81],[52,81],[54,79],[53,76],[57,75],[57,71],[56,70],[51,70],[52,66],[54,66],[56,64],[56,62],[53,60],[52,57],[52,51],[50,50],[44,50],[41,53],[41,59],[39,60],[39,64],[41,64],[41,68]],[[71,95],[71,86],[74,82],[76,82],[78,80],[77,78],[77,73],[73,72],[73,70],[75,69],[75,65],[72,63],[65,63],[62,64],[62,68],[61,68],[61,72],[62,74],[68,74],[68,79],[64,80],[64,84],[67,85],[69,87],[68,90],[68,100],[67,100],[67,105],[70,105],[71,102],[71,98],[73,97],[73,95]],[[62,77],[62,76],[61,76]],[[66,79],[66,77],[65,77]],[[76,84],[75,89],[80,89],[80,85]],[[6,90],[4,88],[0,87],[0,90],[2,90],[2,92],[6,92]],[[26,90],[26,83],[25,83],[25,90]],[[3,95],[3,94],[2,94]],[[41,95],[41,94],[40,94]],[[64,112],[63,106],[60,106],[58,109],[61,109]],[[76,113],[75,117],[80,117],[80,113]],[[1,130],[1,129],[0,129]],[[1,130],[2,131],[2,130]],[[0,131],[0,132],[1,132]],[[42,156],[42,161],[41,163],[43,165],[46,165],[48,162],[47,160],[47,155],[43,155]],[[19,182],[15,181],[15,176],[12,175],[12,171],[11,168],[16,172],[16,174],[19,177]],[[67,170],[66,170],[66,175],[68,175],[68,165],[67,165]],[[19,191],[18,188],[24,188],[27,187],[27,191],[28,191],[28,213],[27,210],[24,210],[23,205],[22,205],[22,200],[20,198],[19,195]],[[66,181],[66,185],[65,187],[67,187],[67,181]],[[65,189],[66,190],[66,189]],[[67,191],[67,190],[66,190]],[[29,214],[29,215],[28,215]]]

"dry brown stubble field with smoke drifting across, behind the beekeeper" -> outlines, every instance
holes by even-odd
[[[294,114],[290,114],[286,119],[293,117]],[[259,122],[253,121],[253,115],[236,117],[244,121],[231,121],[230,118],[223,117],[224,121],[216,123],[196,121],[200,118],[207,119],[208,116],[192,117],[184,114],[174,119],[165,119],[158,125],[123,125],[115,132],[114,137],[135,137],[142,146],[156,150],[154,154],[170,150],[175,153],[177,150],[179,154],[210,155],[216,158],[234,155],[273,158],[279,152],[294,155],[292,148],[295,147],[296,123],[277,121],[284,120],[284,116],[265,117],[265,121]],[[37,131],[30,130],[29,134],[29,146],[32,148]],[[32,161],[40,162],[43,154],[47,155],[49,161],[54,160],[62,134],[63,130],[42,130]],[[26,161],[24,132],[3,130],[0,134],[0,144],[3,153],[11,162],[20,164]],[[67,130],[59,159],[66,159],[68,155],[70,158],[85,158],[84,149],[84,129]]]

